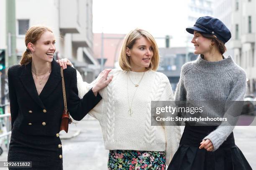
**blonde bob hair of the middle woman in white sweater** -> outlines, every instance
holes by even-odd
[[[129,49],[133,48],[133,45],[135,44],[136,40],[138,40],[141,37],[145,37],[148,39],[149,42],[152,44],[153,48],[153,57],[151,58],[151,62],[148,67],[146,67],[147,70],[157,70],[157,67],[159,65],[159,52],[158,52],[158,47],[156,45],[156,41],[154,37],[147,31],[138,29],[136,28],[135,30],[131,30],[126,36],[125,40],[123,42],[121,51],[120,51],[120,56],[119,56],[119,65],[121,69],[126,70],[126,71],[131,71],[131,62],[130,62],[130,57],[126,55],[126,47]]]

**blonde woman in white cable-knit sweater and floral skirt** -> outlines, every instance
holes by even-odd
[[[156,72],[159,52],[154,37],[141,29],[128,33],[119,65],[121,69],[108,75],[113,76],[110,84],[100,90],[102,100],[89,112],[99,120],[105,149],[110,150],[108,170],[163,170],[177,150],[181,134],[179,126],[151,126],[151,101],[174,100],[168,77]],[[77,72],[79,97],[96,80],[83,82]]]

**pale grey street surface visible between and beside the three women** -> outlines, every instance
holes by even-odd
[[[64,170],[106,170],[108,150],[104,149],[98,121],[90,119],[76,123],[70,125],[70,134],[65,134],[64,131],[61,133]],[[234,135],[236,145],[242,150],[253,170],[256,170],[256,126],[237,126]],[[0,161],[6,159],[5,150]]]

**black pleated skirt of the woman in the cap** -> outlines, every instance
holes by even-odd
[[[233,132],[214,152],[199,149],[202,139],[216,126],[185,126],[179,148],[167,170],[252,170],[235,145]]]

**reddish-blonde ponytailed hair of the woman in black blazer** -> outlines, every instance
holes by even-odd
[[[44,26],[33,26],[27,30],[25,35],[25,45],[27,49],[22,54],[22,57],[20,59],[20,65],[27,65],[29,62],[32,61],[32,54],[31,51],[28,49],[28,43],[31,42],[32,44],[35,44],[36,41],[39,40],[41,35],[46,31],[52,32],[50,28]]]

